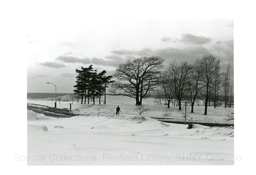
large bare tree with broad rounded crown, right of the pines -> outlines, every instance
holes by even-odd
[[[134,98],[136,105],[141,105],[142,99],[159,86],[163,62],[164,59],[155,56],[127,60],[116,69],[113,76],[118,81],[112,84],[111,91]]]

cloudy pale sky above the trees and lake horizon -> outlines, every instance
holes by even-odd
[[[93,65],[112,75],[118,64],[142,56],[159,56],[165,66],[176,59],[193,62],[206,52],[220,59],[221,71],[234,64],[233,19],[157,16],[119,18],[120,9],[87,15],[82,9],[34,4],[27,28],[27,91],[73,93],[76,69]],[[57,5],[57,4],[55,4]],[[99,9],[100,10],[100,9]],[[102,10],[102,8],[101,8]],[[136,10],[136,9],[133,9]],[[78,11],[78,12],[77,12]],[[141,13],[140,13],[141,14]]]

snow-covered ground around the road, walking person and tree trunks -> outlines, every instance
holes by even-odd
[[[54,101],[27,100],[28,103],[54,106]],[[162,123],[149,117],[163,117],[166,106],[144,99],[150,109],[139,115],[135,100],[107,96],[107,104],[73,102],[70,118],[54,118],[28,110],[28,165],[233,165],[234,128]],[[70,101],[57,102],[69,108]],[[71,102],[72,103],[72,102]],[[120,115],[115,109],[120,106]],[[182,111],[171,106],[174,118]],[[195,106],[194,119],[224,121],[234,108]],[[18,159],[18,158],[17,158]],[[239,159],[239,158],[238,158]]]

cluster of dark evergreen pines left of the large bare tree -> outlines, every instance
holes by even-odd
[[[93,100],[93,104],[95,104],[95,98],[100,98],[104,94],[104,104],[106,104],[106,88],[108,84],[113,83],[114,81],[111,80],[113,76],[105,76],[106,70],[101,71],[99,74],[97,70],[93,70],[92,65],[88,68],[81,67],[81,70],[76,69],[76,85],[74,86],[74,94],[78,94],[81,96],[81,103],[89,104],[89,99]]]

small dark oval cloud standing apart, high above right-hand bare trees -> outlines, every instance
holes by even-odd
[[[191,34],[182,34],[180,42],[188,44],[206,44],[212,41],[211,38],[206,38],[205,36],[195,36]]]

